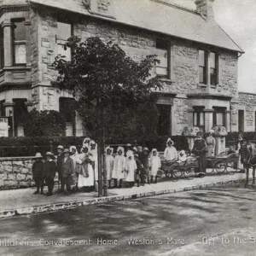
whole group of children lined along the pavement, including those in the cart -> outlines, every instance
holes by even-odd
[[[173,146],[172,139],[166,142],[164,159],[169,161],[185,161],[186,154],[182,150],[177,154]],[[126,149],[126,150],[125,150]],[[43,156],[37,153],[35,162],[32,166],[32,174],[37,186],[34,194],[44,194],[44,183],[48,187],[46,195],[53,195],[55,173],[58,173],[59,182],[61,183],[61,192],[69,195],[72,190],[84,188],[86,192],[97,191],[98,181],[98,160],[97,145],[90,138],[84,138],[83,147],[80,153],[75,146],[63,148],[61,145],[57,148],[57,159],[55,155],[48,152]],[[154,148],[151,153],[148,148],[141,146],[131,147],[127,144],[126,148],[117,148],[116,155],[113,156],[113,148],[105,148],[105,169],[107,171],[108,189],[122,188],[123,183],[129,187],[137,183],[157,183],[158,172],[160,172],[161,160],[159,153]],[[113,181],[113,187],[112,187]]]

